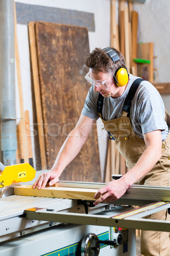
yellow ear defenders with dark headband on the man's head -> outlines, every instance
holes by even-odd
[[[108,56],[112,59],[114,63],[120,60],[119,55],[113,49],[106,47],[103,50],[108,54]],[[127,71],[127,67],[119,67],[114,73],[114,81],[116,85],[125,86],[128,83],[128,80],[129,73]]]

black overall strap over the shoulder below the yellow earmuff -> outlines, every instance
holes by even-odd
[[[133,84],[131,85],[130,90],[126,96],[126,99],[125,99],[125,102],[123,105],[123,111],[128,113],[127,116],[129,116],[129,114],[130,114],[130,106],[131,106],[133,97],[135,96],[136,90],[138,89],[139,84],[142,81],[144,81],[144,79],[142,79],[142,78],[138,78],[135,81],[133,81]]]

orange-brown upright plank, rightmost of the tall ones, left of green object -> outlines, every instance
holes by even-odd
[[[137,64],[133,59],[137,56],[137,33],[138,33],[138,13],[132,11],[132,74],[137,76]]]

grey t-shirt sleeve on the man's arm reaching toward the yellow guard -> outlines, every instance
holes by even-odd
[[[85,99],[84,108],[82,109],[82,114],[84,116],[88,116],[94,120],[99,119],[99,114],[97,112],[98,95],[98,92],[94,92],[93,87],[91,87]]]

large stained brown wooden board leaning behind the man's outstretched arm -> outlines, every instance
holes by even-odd
[[[79,119],[89,90],[84,79],[88,72],[85,67],[85,58],[89,54],[88,30],[37,22],[36,40],[45,147],[50,169]],[[60,179],[100,182],[96,127]]]

